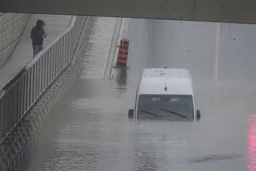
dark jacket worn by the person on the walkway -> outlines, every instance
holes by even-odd
[[[36,26],[31,30],[31,39],[32,39],[32,45],[42,45],[44,42],[44,37],[42,35],[45,34],[44,29],[41,27],[44,21],[42,22],[36,22]],[[46,37],[46,36],[45,36]]]

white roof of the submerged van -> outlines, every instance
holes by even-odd
[[[164,90],[166,83],[167,90]],[[187,69],[144,69],[139,94],[194,95],[191,75]]]

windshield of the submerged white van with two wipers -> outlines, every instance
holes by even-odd
[[[168,117],[172,119],[193,118],[192,95],[140,94],[138,118]]]

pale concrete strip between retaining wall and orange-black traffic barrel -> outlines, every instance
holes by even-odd
[[[84,57],[85,67],[80,78],[104,78],[116,21],[115,17],[95,19]]]

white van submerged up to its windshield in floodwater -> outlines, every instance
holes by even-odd
[[[135,117],[134,117],[135,116]],[[187,69],[144,69],[129,118],[200,119]]]

